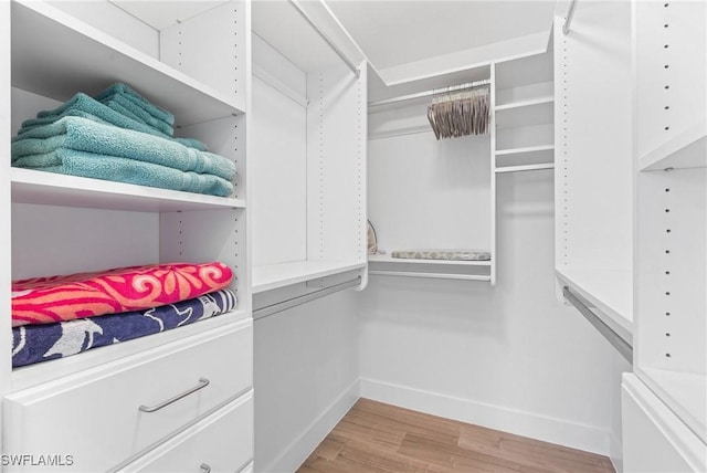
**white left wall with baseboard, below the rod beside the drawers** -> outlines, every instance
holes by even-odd
[[[358,399],[358,297],[255,320],[255,470],[293,472]]]

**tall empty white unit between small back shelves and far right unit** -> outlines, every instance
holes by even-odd
[[[630,347],[633,334],[631,9],[578,3],[555,22],[555,219],[560,286]],[[627,351],[630,353],[630,350]]]

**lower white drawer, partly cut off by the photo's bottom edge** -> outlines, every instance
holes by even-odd
[[[234,473],[253,460],[253,437],[250,391],[118,471]]]

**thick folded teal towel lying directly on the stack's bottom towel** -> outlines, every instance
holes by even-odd
[[[61,148],[151,162],[181,171],[210,174],[226,180],[235,176],[235,164],[223,156],[199,151],[172,139],[73,116],[35,127],[13,139],[12,165],[55,166],[57,161],[55,157],[52,158],[52,153]]]

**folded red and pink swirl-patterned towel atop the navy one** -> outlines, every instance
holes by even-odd
[[[232,277],[229,266],[212,262],[117,267],[14,281],[12,326],[158,307],[224,288]]]

